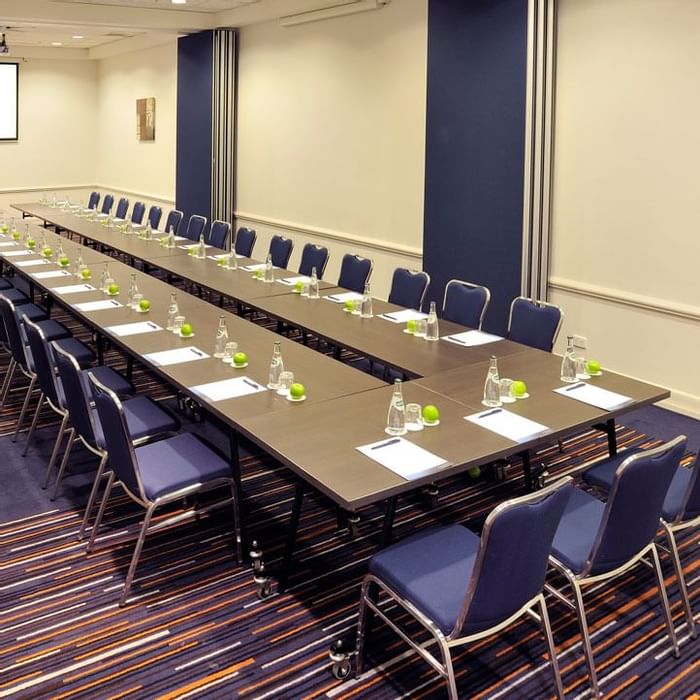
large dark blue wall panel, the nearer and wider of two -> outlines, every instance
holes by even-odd
[[[429,0],[424,268],[431,298],[484,284],[484,327],[520,294],[527,0]]]

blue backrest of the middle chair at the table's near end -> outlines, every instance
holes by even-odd
[[[671,479],[685,454],[685,435],[621,462],[582,575],[612,571],[655,537]]]

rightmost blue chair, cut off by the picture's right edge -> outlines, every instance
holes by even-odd
[[[605,459],[585,471],[582,474],[583,480],[604,491],[610,491],[620,464],[633,454],[641,452],[643,452],[641,449],[635,448]],[[698,455],[695,456],[691,467],[678,466],[661,508],[661,528],[668,540],[668,553],[671,556],[678,581],[688,633],[693,639],[697,636],[695,619],[690,607],[688,588],[678,554],[676,533],[697,527],[700,527],[700,465],[698,464]]]

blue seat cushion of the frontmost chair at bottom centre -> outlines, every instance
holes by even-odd
[[[461,525],[427,530],[377,552],[369,570],[449,634],[464,604],[480,541]]]

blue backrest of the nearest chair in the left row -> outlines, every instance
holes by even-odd
[[[136,497],[147,501],[134,446],[124,416],[124,407],[119,397],[102,384],[92,372],[88,372],[92,394],[100,418],[109,463],[119,481]]]

